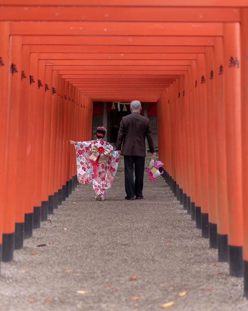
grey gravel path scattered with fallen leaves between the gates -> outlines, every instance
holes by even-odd
[[[162,177],[144,181],[135,201],[124,200],[121,165],[105,201],[79,185],[1,263],[0,310],[157,311],[170,301],[175,311],[248,310],[243,278],[217,263]]]

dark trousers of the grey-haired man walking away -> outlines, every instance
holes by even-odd
[[[124,156],[125,190],[128,197],[142,196],[144,169],[144,156]]]

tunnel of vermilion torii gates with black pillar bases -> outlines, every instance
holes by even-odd
[[[0,43],[2,261],[75,188],[93,101],[137,99],[157,102],[164,177],[247,297],[248,1],[1,0]]]

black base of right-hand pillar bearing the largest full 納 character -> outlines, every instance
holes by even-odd
[[[243,276],[242,246],[228,245],[230,276]]]

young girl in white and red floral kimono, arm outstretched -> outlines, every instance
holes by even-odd
[[[106,129],[96,129],[96,140],[89,142],[73,142],[77,157],[78,181],[92,183],[95,199],[104,200],[106,189],[112,186],[118,167],[121,151],[114,151],[113,146],[103,140]]]

